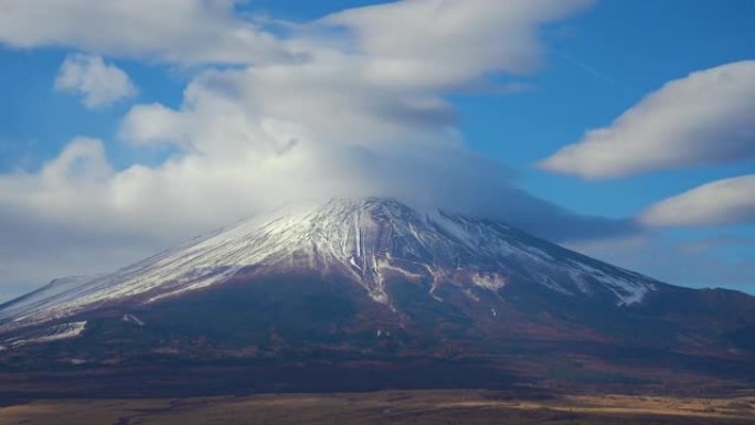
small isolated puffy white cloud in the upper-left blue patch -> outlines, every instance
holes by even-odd
[[[55,77],[55,89],[83,96],[89,109],[110,106],[135,96],[137,88],[119,67],[107,64],[100,56],[70,55]]]

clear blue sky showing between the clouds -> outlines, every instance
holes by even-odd
[[[380,1],[253,0],[237,6],[232,13],[234,19],[255,22],[260,15],[268,21],[275,19],[277,23],[267,22],[262,28],[272,34],[286,34],[280,35],[284,39],[306,40],[310,34],[307,30],[299,32],[297,25],[311,25],[313,20],[330,13],[375,3]],[[485,79],[490,86],[515,83],[525,89],[498,93],[489,87],[443,88],[436,93],[455,109],[456,126],[468,149],[508,167],[513,173],[511,184],[577,214],[636,221],[644,211],[663,200],[706,183],[755,173],[755,160],[742,155],[741,159],[730,158],[714,164],[689,161],[605,179],[585,178],[579,172],[554,172],[535,164],[561,148],[582,141],[586,131],[609,127],[621,114],[669,82],[684,79],[693,72],[755,60],[754,22],[755,0],[596,1],[567,17],[534,26],[543,52],[538,70],[517,73],[493,66],[480,72],[482,78],[476,78]],[[171,60],[153,51],[132,54],[127,49],[81,42],[81,38],[51,36],[60,36],[62,41],[20,45],[19,36],[0,31],[0,93],[4,95],[0,102],[0,174],[3,177],[39,173],[77,136],[103,140],[105,156],[115,172],[135,164],[160,167],[182,147],[134,142],[124,136],[125,117],[138,105],[161,104],[183,110],[183,93],[198,76],[213,67],[245,66]],[[322,33],[311,36],[322,38]],[[128,76],[136,93],[104,106],[86,107],[81,85],[55,88],[63,63],[75,54],[96,55],[105,64],[116,66]],[[743,105],[738,107],[749,108],[755,121],[753,103]],[[755,137],[748,140],[751,146],[755,145]],[[709,141],[711,146],[724,142]],[[24,190],[34,188],[32,184]],[[755,198],[755,193],[749,194]],[[4,208],[11,212],[31,208],[23,203],[26,201],[18,204],[11,201],[17,198],[0,198],[0,202],[6,202]],[[61,215],[65,211],[68,210],[63,210]],[[71,211],[70,214],[76,214]],[[680,224],[649,225],[641,234],[618,242],[565,243],[676,284],[727,286],[755,293],[755,213],[751,211],[744,217],[734,212],[730,215],[736,219],[691,224],[680,219]],[[11,219],[7,220],[11,223]],[[44,214],[40,220],[44,225],[66,225],[65,220]],[[85,238],[113,237],[96,230],[86,234]],[[103,234],[107,236],[98,236]],[[171,234],[159,242],[124,249],[129,254],[114,253],[108,258],[114,264],[127,263],[177,237]],[[8,249],[8,246],[0,247],[0,264],[18,270],[21,265],[9,266],[15,259],[3,254]],[[96,269],[92,265],[83,268]],[[60,266],[50,269],[50,273],[67,272]],[[4,284],[25,288],[34,284],[36,276],[17,275],[17,280]]]

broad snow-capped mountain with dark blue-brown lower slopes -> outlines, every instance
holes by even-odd
[[[542,378],[546,360],[582,358],[631,374],[616,353],[640,352],[645,370],[752,364],[753,333],[753,297],[674,287],[500,222],[374,198],[284,208],[0,306],[9,364],[421,358],[524,362]]]

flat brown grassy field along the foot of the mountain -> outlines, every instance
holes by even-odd
[[[564,396],[492,391],[393,391],[244,397],[38,401],[0,407],[1,425],[735,425],[755,424],[755,396]]]

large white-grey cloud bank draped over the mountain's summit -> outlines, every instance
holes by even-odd
[[[482,213],[556,240],[636,231],[515,189],[506,167],[466,148],[440,98],[350,78],[348,66],[360,63],[341,59],[208,71],[178,109],[137,105],[123,120],[136,148],[176,148],[164,163],[115,171],[100,141],[81,138],[40,172],[0,179],[0,204],[163,241],[285,202],[365,195]]]

